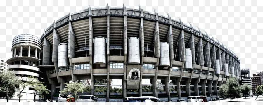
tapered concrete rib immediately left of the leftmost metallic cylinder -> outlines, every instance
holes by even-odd
[[[60,38],[57,31],[53,30],[53,50],[52,50],[52,62],[54,62],[58,83],[61,83],[62,78],[58,76],[58,45],[60,44]]]

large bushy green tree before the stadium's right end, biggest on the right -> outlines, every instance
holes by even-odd
[[[233,101],[234,98],[239,98],[240,93],[239,81],[235,77],[230,77],[225,84],[219,87],[219,94],[225,98],[229,97],[230,101]]]

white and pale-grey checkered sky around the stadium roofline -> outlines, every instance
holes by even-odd
[[[154,13],[153,8],[155,8],[159,15],[167,17],[167,12],[172,19],[181,17],[183,23],[191,22],[193,26],[200,27],[201,30],[205,30],[207,34],[211,34],[232,49],[240,58],[241,68],[249,68],[252,73],[256,73],[261,71],[259,67],[263,58],[258,56],[263,53],[261,46],[258,47],[263,45],[262,36],[257,35],[257,31],[261,28],[257,26],[262,22],[258,22],[257,18],[253,17],[255,15],[256,17],[263,16],[260,12],[253,12],[257,11],[257,7],[251,7],[251,5],[259,4],[259,2],[261,1],[253,1],[252,3],[238,0],[1,1],[0,7],[4,9],[0,10],[3,14],[0,15],[0,58],[6,60],[11,58],[12,39],[17,35],[32,34],[40,38],[44,29],[49,27],[54,20],[60,19],[69,12],[84,10],[89,6],[91,8],[106,7],[107,4],[110,7],[122,7],[124,3],[127,8],[139,9],[140,4],[144,11]],[[239,5],[244,5],[244,7],[239,7]],[[248,10],[252,12],[245,12]],[[257,30],[252,31],[252,24],[245,23],[257,25],[253,27]]]

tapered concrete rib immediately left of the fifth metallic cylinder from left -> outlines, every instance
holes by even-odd
[[[181,75],[180,75],[180,82],[182,81],[182,75],[184,71],[184,64],[186,61],[186,55],[185,55],[185,43],[184,43],[184,30],[182,29],[181,34],[178,38],[178,52],[180,57],[180,62],[183,62],[183,65],[180,67]]]

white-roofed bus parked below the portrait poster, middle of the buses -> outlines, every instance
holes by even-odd
[[[125,97],[125,102],[159,102],[159,100],[153,96]]]

